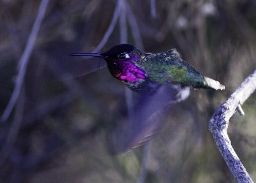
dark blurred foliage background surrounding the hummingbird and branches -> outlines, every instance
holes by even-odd
[[[101,51],[125,40],[147,52],[175,47],[202,74],[226,86],[224,92],[196,90],[175,106],[168,117],[170,125],[152,141],[145,182],[234,182],[207,122],[256,68],[256,2],[123,2],[127,4]],[[0,1],[0,114],[12,95],[18,61],[39,4]],[[86,74],[99,67],[98,59],[68,56],[97,47],[116,4],[110,0],[49,2],[17,105],[1,124],[0,182],[138,179],[142,148],[112,157],[105,136],[109,123],[127,118],[124,85],[107,68]],[[255,99],[253,94],[243,105],[246,116],[234,115],[228,129],[254,180]]]

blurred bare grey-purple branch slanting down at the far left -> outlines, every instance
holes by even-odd
[[[26,48],[25,48],[25,50],[20,58],[20,61],[19,61],[19,73],[17,76],[15,88],[12,93],[12,97],[11,97],[7,107],[4,110],[3,115],[1,116],[2,122],[5,122],[8,119],[8,117],[10,116],[10,113],[12,112],[12,109],[15,106],[17,99],[19,97],[20,90],[21,90],[21,87],[22,87],[22,84],[24,81],[24,77],[26,74],[28,61],[29,61],[32,49],[35,44],[36,36],[38,34],[41,22],[44,19],[44,14],[45,14],[45,10],[46,10],[48,2],[49,2],[49,0],[42,0],[40,3],[40,7],[38,9],[38,14],[36,16],[36,20],[33,24],[33,28],[31,30],[31,33],[28,38],[28,44],[26,45]]]

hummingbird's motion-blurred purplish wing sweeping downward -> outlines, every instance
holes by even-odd
[[[168,112],[183,97],[181,93],[184,90],[180,86],[166,84],[159,87],[153,95],[140,93],[138,104],[134,107],[134,116],[128,122],[120,123],[110,133],[111,152],[126,152],[154,138],[166,125]],[[190,91],[190,88],[186,90]]]

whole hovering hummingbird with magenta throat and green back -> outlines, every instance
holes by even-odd
[[[113,77],[132,91],[140,93],[138,107],[134,109],[137,115],[131,120],[132,124],[122,125],[112,137],[113,143],[118,146],[115,150],[118,153],[152,139],[162,125],[156,122],[158,117],[152,120],[149,116],[154,116],[152,113],[159,111],[159,108],[166,108],[168,100],[172,104],[180,102],[189,96],[193,88],[225,90],[219,81],[203,76],[182,60],[176,49],[149,53],[130,44],[120,44],[102,53],[70,55],[104,59]],[[120,136],[124,137],[120,139]]]

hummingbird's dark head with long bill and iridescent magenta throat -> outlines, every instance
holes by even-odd
[[[143,52],[133,45],[121,44],[112,47],[106,52],[71,54],[79,56],[95,56],[106,60],[109,72],[116,79],[123,81],[132,90],[137,90],[138,86],[147,79],[145,70],[140,66],[145,56]]]

